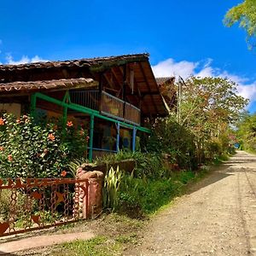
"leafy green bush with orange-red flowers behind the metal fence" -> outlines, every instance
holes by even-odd
[[[67,125],[37,125],[29,116],[0,118],[0,177],[66,177],[67,165],[86,154],[87,134]]]

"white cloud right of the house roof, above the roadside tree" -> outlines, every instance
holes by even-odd
[[[160,61],[157,65],[152,67],[154,76],[157,77],[170,77],[181,76],[183,79],[188,79],[193,75],[196,77],[220,77],[227,78],[236,82],[238,94],[249,99],[250,107],[256,99],[256,81],[250,83],[250,79],[241,77],[234,73],[229,73],[226,70],[221,70],[218,67],[212,67],[212,59],[207,61],[179,61],[167,59]]]

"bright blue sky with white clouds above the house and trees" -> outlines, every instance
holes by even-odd
[[[241,1],[2,0],[0,62],[67,60],[148,52],[156,76],[234,79],[256,111],[256,52],[223,25]]]

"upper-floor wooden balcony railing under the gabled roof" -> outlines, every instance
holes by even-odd
[[[70,99],[75,104],[98,110],[102,115],[134,125],[141,124],[141,111],[139,108],[105,91],[102,91],[102,97],[100,97],[98,90],[73,90],[70,91]]]

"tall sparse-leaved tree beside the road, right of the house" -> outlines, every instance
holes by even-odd
[[[199,160],[207,143],[221,141],[246,105],[247,100],[237,95],[236,83],[228,79],[192,77],[183,84],[180,125],[195,135]]]

